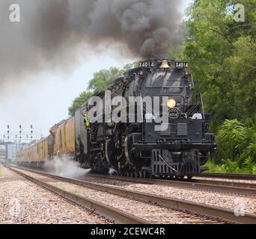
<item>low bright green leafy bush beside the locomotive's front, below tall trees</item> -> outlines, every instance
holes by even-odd
[[[216,135],[218,153],[207,162],[210,172],[255,173],[256,131],[238,120],[225,120]],[[217,164],[216,164],[217,163]]]

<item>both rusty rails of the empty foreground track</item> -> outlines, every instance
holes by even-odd
[[[57,193],[60,196],[63,196],[65,199],[68,199],[72,202],[76,202],[78,204],[82,204],[87,208],[88,207],[91,209],[96,208],[97,211],[100,212],[100,214],[108,214],[108,215],[110,214],[112,218],[114,218],[115,220],[116,218],[118,218],[118,220],[121,221],[122,223],[150,223],[148,221],[135,217],[131,214],[127,214],[127,213],[123,214],[124,212],[122,211],[118,211],[117,209],[110,208],[109,206],[106,207],[106,205],[102,205],[101,203],[95,202],[91,199],[86,199],[82,196],[78,196],[76,194],[61,190],[60,188],[54,187],[51,184],[47,184],[46,182],[40,181],[38,179],[33,179],[30,176],[27,176],[25,173],[21,173],[19,170],[15,170],[14,167],[10,167],[10,166],[7,166],[7,167],[16,173],[19,173],[20,175],[25,176],[25,178],[31,181],[34,181],[37,184],[40,184],[42,187],[45,187],[46,189],[51,190],[52,192]],[[243,217],[237,217],[234,214],[234,211],[227,208],[219,208],[213,205],[199,204],[196,202],[173,199],[173,198],[168,198],[164,196],[155,196],[148,193],[141,193],[138,191],[126,190],[120,187],[107,186],[105,184],[99,184],[95,182],[82,181],[78,179],[68,179],[61,176],[55,176],[49,173],[43,173],[37,170],[28,170],[27,168],[19,168],[19,167],[15,167],[15,168],[18,168],[21,170],[27,170],[32,173],[38,173],[42,176],[47,176],[52,179],[58,179],[60,181],[69,182],[71,184],[76,184],[82,187],[88,187],[94,190],[102,190],[108,193],[117,194],[119,196],[125,196],[127,198],[138,199],[141,201],[146,201],[146,202],[154,203],[157,205],[162,205],[168,208],[174,208],[176,210],[190,211],[195,214],[200,214],[202,216],[224,220],[226,222],[256,224],[255,214],[246,213]],[[112,210],[115,210],[115,212],[113,213]]]

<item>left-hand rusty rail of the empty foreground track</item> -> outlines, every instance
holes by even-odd
[[[45,188],[46,190],[51,191],[52,193],[57,194],[58,196],[61,196],[64,199],[67,199],[67,201],[73,202],[76,205],[83,206],[85,208],[88,208],[94,212],[97,212],[98,214],[101,214],[109,219],[116,220],[119,223],[125,223],[125,224],[151,224],[149,221],[144,220],[139,217],[135,217],[132,214],[128,214],[127,212],[118,210],[117,208],[112,208],[109,205],[104,205],[101,202],[94,201],[93,199],[88,199],[85,196],[80,196],[75,193],[70,193],[66,190],[63,190],[59,187],[55,187],[52,184],[47,184],[44,181],[41,181],[39,179],[34,179],[31,176],[28,176],[25,173],[20,172],[19,170],[14,170],[13,167],[7,166],[5,164],[5,167],[7,167],[9,170],[12,170],[13,172],[19,174],[20,176],[24,177],[25,179],[28,179],[29,181],[34,182],[35,184],[39,185],[40,187]]]

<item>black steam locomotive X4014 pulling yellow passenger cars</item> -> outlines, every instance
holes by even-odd
[[[145,60],[113,81],[108,91],[95,95],[102,99],[103,109],[109,108],[106,92],[127,102],[130,97],[157,96],[162,106],[158,114],[154,114],[155,105],[149,112],[147,104],[135,102],[135,122],[130,120],[130,114],[127,121],[111,118],[106,122],[103,111],[103,122],[94,120],[87,124],[85,116],[90,115],[92,105],[85,102],[75,117],[54,125],[48,137],[19,152],[18,163],[40,167],[54,157],[70,155],[81,167],[96,173],[113,169],[112,172],[127,176],[191,179],[204,170],[201,166],[216,144],[214,135],[207,132],[209,115],[204,113],[202,96],[193,95],[194,82],[186,72],[187,66],[186,62],[174,60]],[[166,115],[163,106],[168,109],[167,122],[165,127],[157,128],[158,119]],[[115,107],[110,109],[111,114]],[[143,116],[141,120],[138,113]]]

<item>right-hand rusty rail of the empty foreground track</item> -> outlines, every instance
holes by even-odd
[[[79,186],[90,187],[94,190],[103,190],[109,193],[114,193],[117,195],[129,197],[133,199],[140,199],[146,202],[152,202],[158,205],[164,205],[164,206],[171,207],[178,210],[191,211],[196,214],[201,214],[208,217],[214,217],[214,218],[218,218],[218,219],[225,220],[232,223],[256,224],[256,214],[245,213],[243,217],[242,216],[237,217],[234,214],[234,211],[227,208],[219,208],[213,205],[201,204],[201,203],[191,202],[191,201],[186,201],[181,199],[168,198],[165,196],[155,196],[148,193],[141,193],[138,191],[126,190],[126,189],[121,189],[113,186],[106,186],[104,184],[99,184],[95,182],[82,181],[78,179],[69,179],[69,178],[55,176],[48,173],[38,172],[36,170],[28,170],[28,171],[38,173],[43,176],[48,176],[52,179],[66,181]]]

